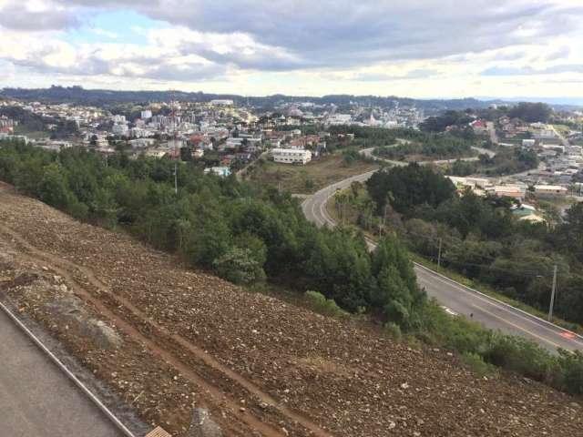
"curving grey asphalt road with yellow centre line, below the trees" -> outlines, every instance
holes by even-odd
[[[353,181],[365,181],[373,172],[347,178],[321,189],[303,201],[304,215],[318,226],[333,227],[335,223],[325,208],[328,198],[333,196],[336,189],[347,188]],[[373,249],[373,242],[369,241],[369,246]],[[535,340],[550,351],[556,351],[558,347],[583,351],[583,338],[568,330],[489,298],[419,264],[415,264],[414,269],[417,282],[425,288],[427,294],[457,315],[469,316],[473,313],[474,320],[487,328]]]

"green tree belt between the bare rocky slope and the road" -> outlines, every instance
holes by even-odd
[[[344,310],[419,323],[424,293],[404,247],[387,238],[369,253],[360,232],[317,229],[289,193],[180,162],[177,194],[169,158],[0,144],[0,179],[77,219],[126,229],[233,282],[294,278]]]

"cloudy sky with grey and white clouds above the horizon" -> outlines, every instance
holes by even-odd
[[[0,0],[0,87],[583,97],[582,0]]]

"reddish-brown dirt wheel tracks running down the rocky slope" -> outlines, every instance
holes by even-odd
[[[9,229],[5,225],[0,224],[0,232],[4,232],[10,236],[11,239],[15,239],[22,247],[26,248],[26,251],[30,254],[31,258],[42,261],[45,265],[58,271],[58,273],[66,278],[66,280],[73,286],[73,290],[78,297],[93,304],[97,310],[106,315],[107,318],[113,320],[118,328],[124,330],[129,336],[148,346],[150,351],[168,362],[185,377],[199,385],[204,391],[207,391],[210,394],[212,401],[216,402],[217,400],[220,400],[221,403],[227,405],[232,412],[235,412],[242,422],[246,422],[252,429],[261,432],[263,436],[284,436],[286,434],[281,432],[281,428],[261,422],[260,418],[256,418],[248,413],[246,408],[242,410],[244,407],[241,407],[239,402],[227,397],[220,387],[211,384],[196,371],[193,371],[188,364],[185,364],[184,361],[180,360],[176,353],[161,347],[160,342],[165,343],[165,340],[173,340],[184,350],[189,351],[196,360],[201,361],[205,366],[213,371],[219,372],[227,379],[239,384],[242,388],[249,391],[252,396],[256,397],[261,404],[266,405],[267,408],[272,407],[281,413],[281,415],[287,417],[288,420],[300,423],[311,433],[311,435],[318,437],[333,437],[332,433],[323,430],[316,423],[312,422],[307,417],[302,416],[302,414],[293,412],[285,405],[282,405],[281,402],[275,400],[269,393],[261,391],[261,389],[252,381],[247,380],[235,371],[231,371],[219,361],[215,360],[209,353],[201,350],[189,340],[179,334],[170,333],[166,328],[159,326],[158,323],[149,319],[146,314],[138,310],[138,308],[136,308],[136,306],[129,300],[114,295],[102,281],[97,279],[97,276],[91,269],[79,266],[67,259],[56,257],[54,254],[49,254],[41,249],[35,248],[29,244],[26,239],[15,232],[15,230]],[[79,274],[81,274],[84,279],[87,279],[87,282],[97,290],[98,298],[88,292],[81,285]],[[103,300],[104,297],[106,297],[107,300]],[[114,310],[110,310],[111,305],[107,306],[107,304],[104,303],[105,301],[109,301],[115,305],[115,312]],[[122,318],[119,315],[120,313],[130,316],[131,320],[137,321],[138,326],[140,326],[141,329],[136,329],[131,322]],[[144,333],[144,330],[149,331],[148,336]],[[161,338],[162,341],[151,340],[152,338],[158,337]]]

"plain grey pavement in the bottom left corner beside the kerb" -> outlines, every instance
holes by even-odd
[[[0,435],[118,437],[111,422],[0,310]]]

